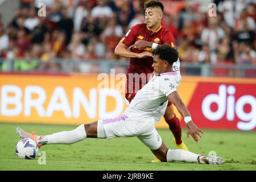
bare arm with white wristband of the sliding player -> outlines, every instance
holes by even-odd
[[[191,119],[191,115],[190,115],[187,107],[184,105],[183,101],[181,100],[177,91],[174,91],[171,94],[169,94],[168,95],[168,100],[170,100],[172,102],[172,104],[174,104],[177,107],[177,110],[179,111],[179,113],[184,118],[184,121],[186,122],[187,127],[188,127],[188,130],[187,130],[188,139],[189,139],[189,135],[191,135],[196,142],[199,142],[199,139],[197,138],[197,135],[200,138],[203,138],[203,137],[201,137],[200,133],[204,134],[204,131],[200,130],[195,125],[195,123],[193,123],[193,121]]]

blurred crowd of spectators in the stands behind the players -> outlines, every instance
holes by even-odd
[[[40,2],[46,4],[45,17],[38,16]],[[20,0],[7,27],[0,17],[0,59],[126,60],[114,48],[130,27],[144,23],[144,2]],[[165,13],[162,25],[174,35],[181,61],[256,64],[255,0],[213,1],[213,17],[200,11],[200,3],[179,2],[177,14]]]

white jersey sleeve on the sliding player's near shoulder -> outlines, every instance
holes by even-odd
[[[177,90],[177,84],[174,78],[170,76],[161,76],[159,79],[159,91],[168,97],[172,92]]]

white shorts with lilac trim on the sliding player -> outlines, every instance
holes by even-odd
[[[157,150],[162,138],[155,129],[155,122],[138,122],[122,115],[112,119],[98,120],[98,127],[104,127],[108,139],[117,137],[137,137],[151,150]]]

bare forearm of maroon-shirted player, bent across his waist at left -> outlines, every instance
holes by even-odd
[[[152,56],[151,52],[148,51],[144,51],[141,53],[136,53],[136,52],[131,52],[129,51],[129,49],[127,49],[128,47],[123,44],[122,42],[119,42],[117,47],[115,47],[115,55],[118,56],[122,56],[122,57],[138,57],[138,58],[142,58],[142,57],[148,57],[148,56]]]

